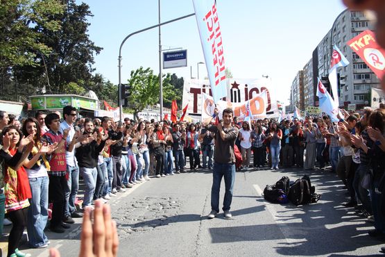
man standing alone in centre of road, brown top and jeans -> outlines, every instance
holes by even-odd
[[[218,115],[218,108],[214,109],[214,115]],[[207,216],[214,218],[219,213],[219,190],[221,189],[222,177],[225,179],[225,198],[223,199],[223,212],[226,219],[232,217],[230,205],[235,179],[235,156],[234,144],[238,136],[238,128],[232,126],[233,111],[231,108],[223,110],[222,122],[217,126],[209,126],[207,129],[215,133],[214,169],[212,172],[211,189],[211,213]],[[211,120],[205,122],[209,125]]]

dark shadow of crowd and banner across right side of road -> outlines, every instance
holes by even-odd
[[[282,173],[288,174],[287,171]],[[367,233],[373,229],[373,224],[357,216],[354,208],[341,205],[347,200],[346,190],[335,174],[318,171],[300,173],[289,173],[289,177],[298,179],[305,173],[309,174],[312,185],[316,186],[316,192],[322,194],[318,203],[305,206],[275,205],[268,203],[263,197],[255,197],[266,209],[273,209],[271,215],[275,216],[276,224],[211,228],[209,232],[212,242],[280,240],[275,247],[277,254],[287,256],[338,256],[336,253],[356,251],[361,247],[382,243],[370,238]],[[242,210],[235,210],[233,215],[236,216],[237,212],[242,214]]]

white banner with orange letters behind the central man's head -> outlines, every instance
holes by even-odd
[[[216,103],[216,107],[219,111],[219,119],[222,119],[222,113],[225,108],[232,108],[234,111],[234,117],[238,117],[239,120],[248,119],[263,119],[266,117],[266,103],[267,96],[266,91],[262,91],[260,94],[255,95],[252,99],[248,101],[243,101],[241,103],[231,103],[230,101],[219,100]],[[214,115],[214,99],[208,94],[202,94],[202,122],[207,119],[212,119]]]

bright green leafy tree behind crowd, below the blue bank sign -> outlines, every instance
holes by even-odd
[[[180,99],[180,96],[173,90],[170,83],[171,75],[164,75],[162,81],[163,101],[166,104],[171,104],[173,99]],[[128,103],[134,110],[134,117],[139,119],[138,113],[160,102],[160,85],[159,76],[153,74],[150,68],[144,69],[140,67],[137,70],[132,70],[128,85],[131,85],[130,97]]]

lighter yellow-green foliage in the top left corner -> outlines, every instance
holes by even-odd
[[[46,31],[58,31],[58,19],[64,6],[57,0],[2,0],[0,1],[0,69],[6,73],[15,66],[36,66],[36,53],[48,54],[51,48],[41,41],[35,30],[37,24]]]

